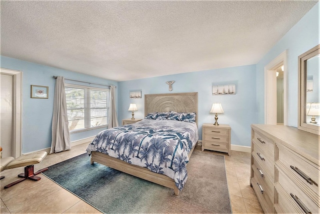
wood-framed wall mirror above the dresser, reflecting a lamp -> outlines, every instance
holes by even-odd
[[[298,129],[320,135],[320,45],[298,57]]]

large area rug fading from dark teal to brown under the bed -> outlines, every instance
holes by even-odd
[[[102,164],[85,153],[43,174],[104,213],[231,213],[224,156],[194,150],[179,196],[172,189]]]

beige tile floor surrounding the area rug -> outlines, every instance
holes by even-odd
[[[50,166],[85,152],[88,143],[72,146],[71,150],[47,155],[35,164],[35,170]],[[196,146],[195,149],[200,149]],[[207,151],[225,156],[227,182],[233,213],[263,213],[253,189],[249,185],[250,154],[232,151],[226,153]],[[192,157],[192,156],[191,156]],[[76,166],[74,166],[76,167]],[[41,180],[25,180],[10,188],[3,187],[15,180],[23,167],[7,169],[0,173],[0,213],[99,213],[94,207],[63,189],[44,175]]]

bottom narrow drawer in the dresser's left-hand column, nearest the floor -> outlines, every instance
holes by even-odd
[[[263,183],[259,183],[255,177],[251,178],[251,185],[254,189],[254,192],[256,194],[256,196],[259,199],[259,202],[263,208],[263,211],[266,213],[273,213],[273,195],[269,195],[268,193],[266,193],[263,188]],[[263,190],[263,191],[261,191]]]

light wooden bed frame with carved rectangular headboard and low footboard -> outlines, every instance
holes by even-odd
[[[195,112],[197,124],[197,92],[191,93],[170,93],[170,94],[145,94],[144,95],[144,115],[151,112]],[[196,145],[196,144],[195,144]],[[195,146],[190,150],[190,158]],[[162,174],[152,172],[146,168],[132,165],[110,157],[107,154],[93,151],[91,152],[91,164],[93,162],[101,163],[113,169],[125,172],[127,174],[139,177],[162,186],[172,188],[175,195],[179,195],[179,190],[175,186],[174,180]]]

